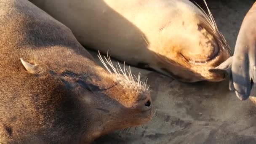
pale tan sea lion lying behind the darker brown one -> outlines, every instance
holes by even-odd
[[[184,82],[221,81],[209,72],[229,46],[189,0],[30,0],[69,27],[84,46]]]

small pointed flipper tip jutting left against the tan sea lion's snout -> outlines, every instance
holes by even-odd
[[[226,76],[231,74],[233,56],[229,57],[226,61],[220,64],[218,67],[209,69],[210,72],[224,73]]]

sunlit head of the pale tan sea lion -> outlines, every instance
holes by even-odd
[[[209,71],[230,57],[211,12],[207,15],[189,1],[177,1],[176,7],[172,21],[149,43],[158,59],[151,67],[183,82],[224,80],[224,73]]]

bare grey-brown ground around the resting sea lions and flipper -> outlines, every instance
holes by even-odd
[[[254,1],[208,0],[232,51]],[[227,80],[186,84],[144,69],[132,68],[132,72],[141,72],[143,80],[149,78],[155,116],[145,128],[116,131],[95,144],[256,144],[256,106],[249,100],[239,101],[228,90]]]

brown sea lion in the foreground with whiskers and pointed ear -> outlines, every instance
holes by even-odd
[[[40,8],[0,0],[0,143],[88,143],[148,122],[145,84],[108,70]]]

